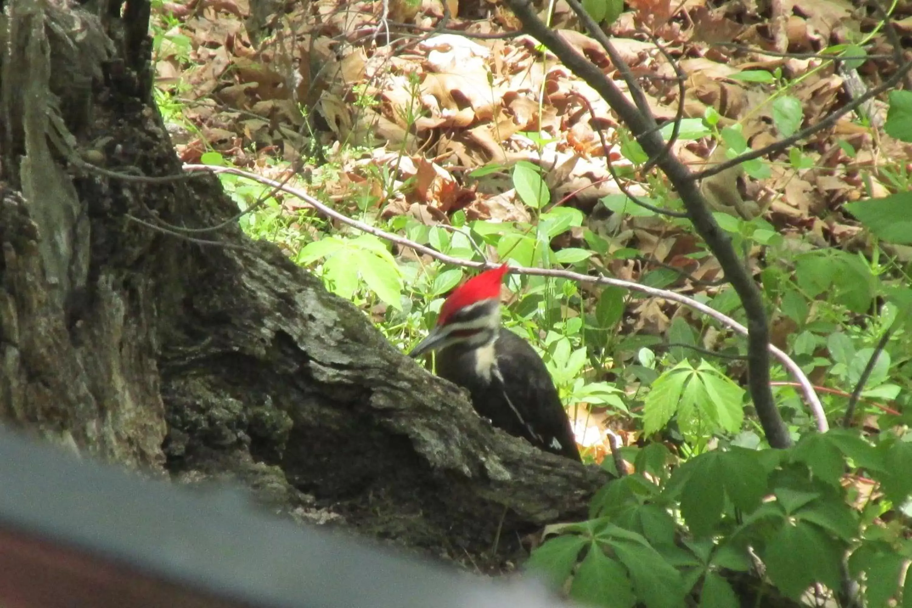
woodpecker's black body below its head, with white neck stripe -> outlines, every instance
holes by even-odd
[[[523,338],[506,329],[492,345],[441,348],[437,373],[467,388],[472,406],[495,427],[536,448],[579,460],[570,421],[544,361]]]

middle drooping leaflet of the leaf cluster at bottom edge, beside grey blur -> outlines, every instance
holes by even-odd
[[[570,587],[570,596],[588,605],[606,608],[631,608],[637,603],[627,570],[607,557],[595,545],[579,564]]]

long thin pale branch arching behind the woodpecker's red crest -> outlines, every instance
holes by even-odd
[[[183,168],[184,170],[188,171],[212,171],[213,173],[231,173],[233,175],[243,176],[250,180],[259,181],[268,186],[272,186],[274,188],[278,188],[279,190],[285,191],[288,194],[301,199],[302,201],[306,201],[306,203],[311,205],[314,209],[316,209],[316,211],[319,211],[320,213],[323,213],[324,215],[337,220],[338,222],[347,224],[348,226],[356,228],[361,232],[373,234],[374,236],[377,236],[378,238],[384,239],[386,241],[395,242],[402,247],[409,247],[416,252],[424,253],[429,257],[443,263],[449,263],[466,268],[476,268],[479,270],[496,267],[496,264],[490,262],[467,262],[461,258],[446,255],[445,253],[440,253],[436,250],[431,249],[430,247],[421,245],[420,243],[410,241],[409,239],[401,237],[398,234],[380,230],[379,228],[375,228],[374,226],[371,226],[365,222],[359,222],[358,220],[349,218],[347,215],[344,215],[343,213],[339,213],[338,211],[327,207],[321,201],[317,201],[314,197],[308,195],[305,191],[300,191],[290,186],[283,185],[280,181],[269,180],[249,171],[235,169],[233,167],[212,167],[210,165],[184,165]],[[155,228],[155,226],[153,226],[153,228]],[[697,310],[700,313],[706,314],[719,321],[720,324],[730,327],[736,333],[747,335],[750,338],[747,327],[741,325],[730,316],[721,314],[719,311],[710,308],[710,306],[701,304],[700,302],[697,302],[696,300],[693,300],[686,295],[677,294],[665,289],[657,289],[655,287],[648,287],[647,285],[641,285],[639,283],[632,283],[630,281],[623,281],[621,279],[615,279],[606,276],[590,276],[588,274],[572,273],[570,271],[554,270],[549,268],[511,267],[510,272],[536,276],[549,276],[557,279],[575,281],[577,283],[612,285],[615,287],[623,287],[631,291],[640,292],[642,294],[648,294],[653,297],[664,298],[672,302],[677,302],[679,304],[689,306],[690,308],[693,308],[694,310]],[[814,386],[811,384],[811,381],[808,380],[807,376],[804,375],[801,367],[798,366],[788,355],[783,353],[782,350],[770,344],[767,344],[767,346],[769,347],[769,352],[771,352],[773,356],[776,356],[776,358],[780,360],[782,366],[785,366],[798,382],[798,384],[802,386],[805,400],[807,401],[808,407],[811,409],[811,412],[814,414],[814,418],[817,421],[817,428],[819,428],[821,432],[826,431],[829,428],[829,425],[826,421],[826,415],[824,414],[824,407],[821,404],[820,399],[817,397],[817,394],[814,392]]]

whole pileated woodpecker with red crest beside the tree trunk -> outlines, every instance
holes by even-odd
[[[544,361],[523,338],[501,331],[506,272],[503,264],[457,287],[409,356],[436,350],[437,374],[468,388],[480,416],[536,448],[578,461],[573,429]]]

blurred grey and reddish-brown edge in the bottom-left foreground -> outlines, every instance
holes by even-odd
[[[0,428],[3,608],[558,608],[339,533],[79,460]]]

